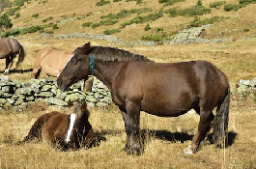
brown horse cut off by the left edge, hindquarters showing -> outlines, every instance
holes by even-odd
[[[25,50],[20,42],[14,38],[0,39],[0,59],[6,58],[6,68],[4,73],[9,73],[9,70],[14,64],[14,58],[18,54],[18,60],[15,69],[23,62],[25,58]]]

